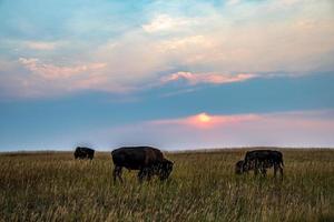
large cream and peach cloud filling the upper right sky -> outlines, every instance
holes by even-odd
[[[178,67],[194,73],[279,71],[292,75],[331,69],[328,58],[333,57],[334,42],[330,37],[334,34],[331,27],[334,18],[327,12],[328,3],[279,2],[238,1],[223,8],[197,2],[187,9],[191,12],[200,8],[202,13],[183,17],[178,11],[185,7],[183,3],[170,7],[158,2],[153,7],[158,16],[154,13],[141,26],[144,32],[130,31],[112,40],[119,43],[118,49],[105,51],[102,57],[111,60],[117,53],[124,60],[129,58],[127,68],[120,71],[136,72],[134,81],[140,77],[154,79],[157,72],[168,73]],[[324,14],[311,13],[312,9]],[[114,69],[119,69],[111,63]]]

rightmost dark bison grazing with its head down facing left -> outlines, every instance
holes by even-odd
[[[253,150],[248,151],[244,160],[238,161],[235,164],[235,173],[242,174],[250,170],[257,175],[261,172],[264,176],[268,168],[274,167],[274,176],[279,171],[281,178],[283,178],[283,154],[276,150]]]

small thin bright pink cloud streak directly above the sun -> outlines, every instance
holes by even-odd
[[[186,80],[189,84],[212,83],[224,84],[230,82],[240,82],[256,78],[253,73],[238,73],[238,74],[217,74],[217,73],[191,73],[191,72],[177,72],[161,78],[163,83]]]

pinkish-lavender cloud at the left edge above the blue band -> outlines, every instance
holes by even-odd
[[[17,62],[6,61],[4,64],[7,65],[0,69],[1,99],[2,97],[48,98],[82,90],[114,93],[134,90],[130,87],[114,83],[112,79],[104,74],[106,64],[102,62],[59,65],[38,58],[20,58]]]

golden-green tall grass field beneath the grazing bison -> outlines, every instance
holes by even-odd
[[[114,184],[109,153],[0,154],[1,221],[334,221],[334,150],[281,150],[284,181],[234,174],[245,150],[166,153],[170,180]]]

